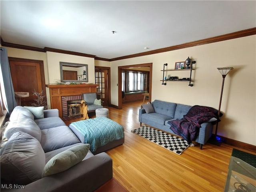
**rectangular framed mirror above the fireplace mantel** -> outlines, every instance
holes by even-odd
[[[88,82],[88,65],[60,62],[61,82]]]

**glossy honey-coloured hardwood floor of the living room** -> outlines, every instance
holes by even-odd
[[[202,150],[190,146],[177,155],[131,132],[140,126],[141,104],[126,103],[122,110],[108,107],[109,118],[121,124],[125,134],[122,146],[106,152],[113,160],[114,178],[129,192],[223,191],[234,147],[207,143]]]

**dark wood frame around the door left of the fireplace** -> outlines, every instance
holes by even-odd
[[[47,103],[45,76],[44,76],[44,61],[43,60],[34,60],[34,59],[15,58],[15,57],[8,57],[8,60],[9,60],[9,62],[10,61],[19,61],[19,62],[28,62],[28,63],[38,63],[40,65],[42,90],[44,92],[45,100]],[[48,103],[47,103],[47,106],[48,106]]]

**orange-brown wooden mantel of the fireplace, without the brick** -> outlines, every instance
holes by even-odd
[[[62,117],[62,96],[81,95],[82,93],[96,93],[98,84],[78,84],[78,85],[53,85],[46,87],[50,90],[51,108],[59,110],[59,116]]]

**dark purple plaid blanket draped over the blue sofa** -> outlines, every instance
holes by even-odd
[[[175,134],[182,136],[190,144],[196,139],[201,124],[213,117],[218,119],[218,110],[212,107],[195,105],[184,115],[184,118],[171,120],[168,124],[170,124],[170,129]]]

